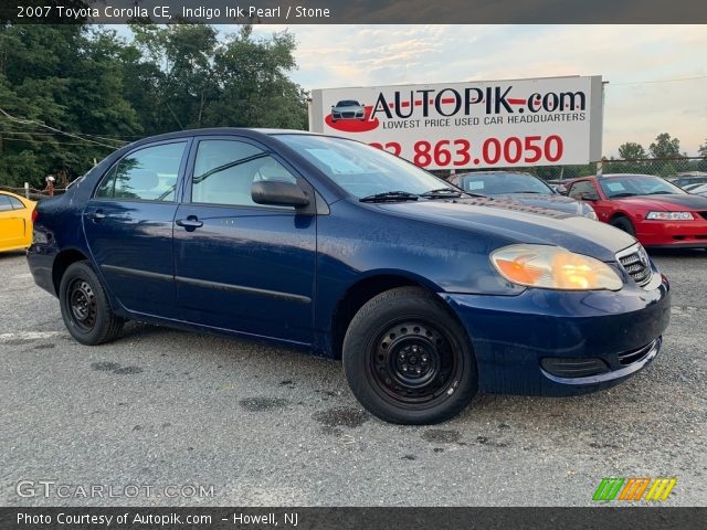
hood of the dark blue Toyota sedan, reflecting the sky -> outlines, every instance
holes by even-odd
[[[636,242],[625,232],[591,219],[507,200],[431,200],[376,206],[390,214],[506,240],[502,245],[557,245],[604,262],[614,262],[619,251]]]

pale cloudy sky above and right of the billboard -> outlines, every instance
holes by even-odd
[[[625,141],[647,150],[661,132],[689,156],[707,144],[704,25],[294,24],[255,34],[283,30],[297,40],[292,77],[307,91],[602,75],[604,156]]]

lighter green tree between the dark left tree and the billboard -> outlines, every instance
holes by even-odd
[[[133,24],[131,30],[133,50],[124,53],[126,94],[146,110],[147,132],[306,127],[306,94],[288,77],[296,66],[291,33],[256,40],[247,25],[223,38],[204,24]],[[135,89],[146,85],[150,95]]]

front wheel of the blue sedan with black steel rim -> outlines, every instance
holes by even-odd
[[[443,422],[478,390],[464,328],[418,287],[382,293],[356,314],[344,339],[344,372],[359,402],[391,423]]]

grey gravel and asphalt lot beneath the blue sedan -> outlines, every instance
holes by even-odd
[[[666,504],[705,506],[707,253],[654,258],[674,306],[646,370],[407,427],[365,413],[339,362],[139,324],[81,346],[24,256],[0,255],[0,505],[582,506],[602,477],[676,476]]]

